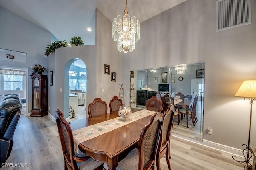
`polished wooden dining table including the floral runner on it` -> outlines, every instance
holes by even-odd
[[[110,170],[116,170],[118,162],[138,147],[142,129],[154,113],[132,108],[132,115],[126,119],[119,117],[118,111],[113,111],[71,121],[74,148],[94,160],[106,162]]]

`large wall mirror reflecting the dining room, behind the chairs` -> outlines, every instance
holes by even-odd
[[[197,121],[192,122],[189,115],[174,117],[172,133],[177,133],[192,139],[203,139],[203,113],[204,113],[204,66],[205,63],[182,64],[177,66],[152,68],[133,71],[130,78],[130,106],[146,109],[146,101],[152,96],[158,96],[164,102],[164,96],[174,98],[179,92],[184,94],[184,103],[193,106],[195,96],[198,96],[196,104]],[[161,96],[160,96],[160,95]],[[175,100],[175,99],[174,99]],[[181,100],[175,100],[174,105],[179,106]],[[187,126],[188,125],[188,126]]]

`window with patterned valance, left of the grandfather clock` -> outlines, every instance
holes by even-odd
[[[1,90],[24,90],[26,70],[0,68]]]

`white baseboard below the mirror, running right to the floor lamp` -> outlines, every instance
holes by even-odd
[[[241,149],[233,148],[233,147],[230,147],[230,146],[227,146],[227,145],[222,145],[220,143],[215,143],[215,142],[208,141],[208,140],[205,140],[205,139],[203,139],[203,141],[198,141],[198,140],[191,139],[191,138],[188,138],[188,137],[183,137],[183,136],[175,134],[175,133],[171,133],[171,135],[175,136],[175,137],[178,137],[178,138],[181,138],[181,139],[184,139],[184,140],[187,140],[187,141],[190,141],[190,142],[193,142],[193,143],[197,143],[199,145],[204,145],[204,146],[209,147],[209,148],[213,148],[213,149],[216,149],[216,150],[220,150],[222,152],[226,152],[228,154],[232,154],[236,157],[244,158],[243,150],[241,150]],[[247,154],[246,151],[245,151],[245,154]],[[251,160],[252,160],[252,158],[251,158]]]

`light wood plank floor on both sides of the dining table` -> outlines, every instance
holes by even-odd
[[[27,163],[27,168],[1,170],[63,170],[64,162],[58,129],[48,116],[21,116],[14,133],[12,153],[6,163]],[[242,170],[232,155],[172,136],[172,170]],[[165,157],[162,170],[168,170]]]

